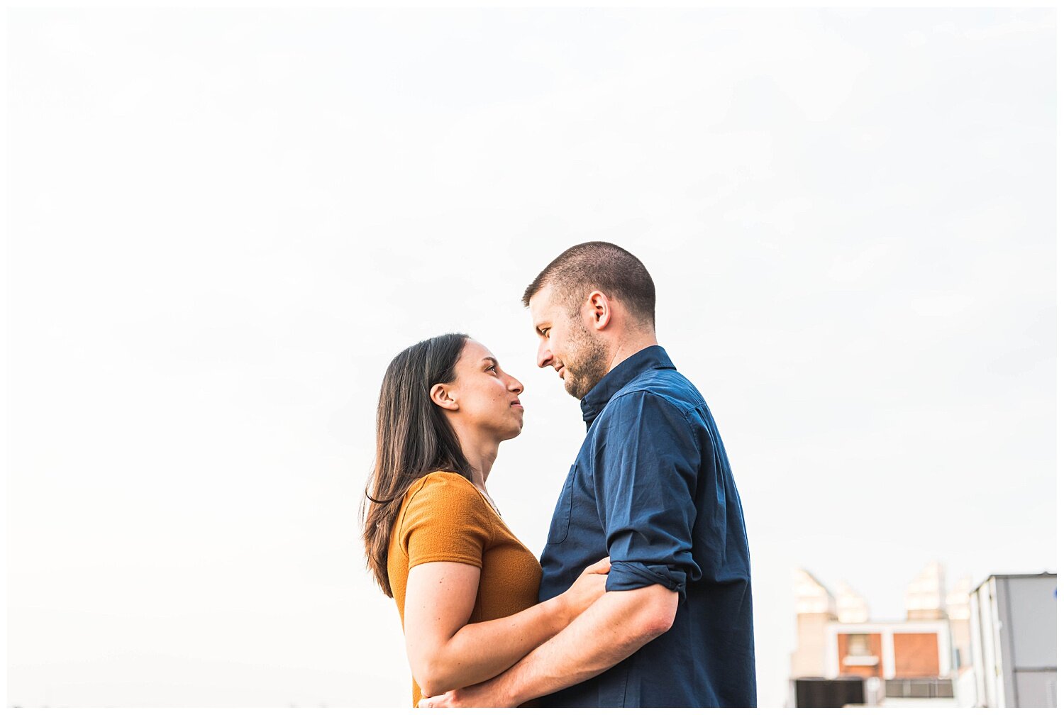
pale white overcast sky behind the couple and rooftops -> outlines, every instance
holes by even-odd
[[[519,297],[618,243],[746,510],[872,615],[1055,570],[1048,10],[12,11],[9,695],[402,705],[356,518],[388,360],[520,378],[533,552],[583,437]]]

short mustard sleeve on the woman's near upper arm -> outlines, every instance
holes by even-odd
[[[410,567],[434,561],[483,566],[487,504],[461,475],[433,472],[414,487],[399,526]]]

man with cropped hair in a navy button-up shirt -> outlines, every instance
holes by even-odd
[[[505,672],[422,706],[754,706],[746,526],[705,401],[654,333],[654,284],[613,244],[580,244],[525,292],[537,363],[587,436],[554,510],[539,600],[610,556],[606,593]]]

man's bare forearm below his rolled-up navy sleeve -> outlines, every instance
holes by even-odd
[[[609,592],[568,628],[484,685],[517,705],[609,670],[667,631],[679,597],[664,586]]]

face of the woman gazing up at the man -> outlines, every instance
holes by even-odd
[[[487,348],[477,340],[466,340],[454,372],[450,390],[458,406],[454,418],[499,442],[521,433],[525,408],[517,396],[525,385],[504,372]]]

